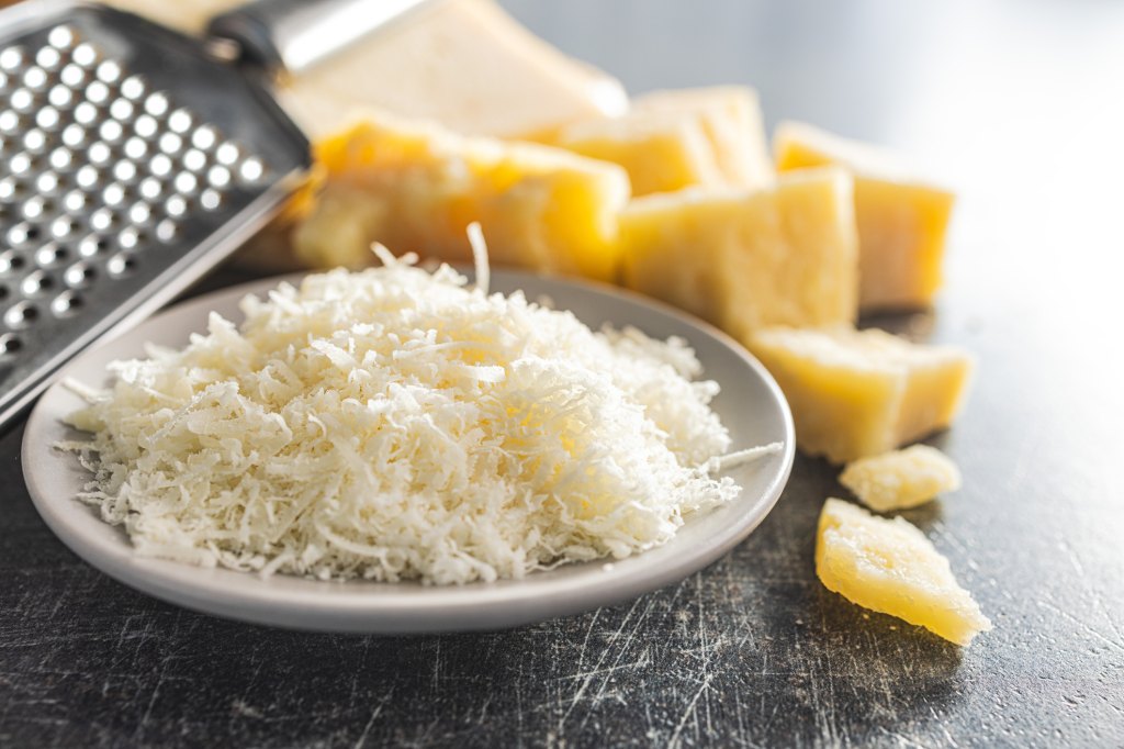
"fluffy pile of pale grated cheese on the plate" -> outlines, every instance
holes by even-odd
[[[145,556],[460,584],[628,557],[736,495],[683,341],[377,252],[73,386],[81,498]]]

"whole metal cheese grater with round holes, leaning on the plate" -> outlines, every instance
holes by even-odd
[[[301,184],[308,141],[263,73],[418,4],[259,0],[215,19],[208,43],[85,2],[0,11],[0,426]]]

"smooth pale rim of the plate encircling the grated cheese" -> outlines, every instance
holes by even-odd
[[[457,267],[456,270],[469,278],[472,277],[471,271],[464,268]],[[247,294],[261,295],[282,282],[299,282],[316,272],[285,273],[224,287],[172,305],[145,321],[143,325],[155,325],[171,317],[201,315],[219,304],[239,299]],[[226,619],[285,629],[386,634],[518,626],[636,598],[708,567],[745,540],[760,525],[776,506],[791,475],[796,452],[795,427],[791,409],[777,381],[744,346],[704,321],[628,289],[583,279],[506,269],[493,269],[491,277],[493,290],[497,285],[515,290],[531,280],[573,286],[586,292],[608,297],[609,304],[624,301],[641,309],[653,310],[692,328],[692,332],[698,331],[711,337],[734,353],[770,391],[771,400],[779,407],[785,432],[780,468],[769,480],[764,491],[755,495],[752,512],[741,522],[723,526],[710,539],[713,543],[706,544],[705,548],[698,548],[700,544],[695,544],[694,549],[688,547],[691,552],[682,554],[680,559],[673,560],[673,563],[658,566],[654,570],[649,566],[633,565],[626,574],[610,572],[600,577],[569,575],[535,580],[536,576],[544,575],[536,571],[522,580],[477,581],[455,586],[426,586],[411,581],[405,584],[354,581],[353,584],[357,583],[364,587],[356,586],[353,590],[346,590],[348,585],[346,581],[325,583],[296,576],[274,576],[263,579],[254,572],[203,568],[187,562],[139,557],[128,544],[124,529],[101,521],[97,517],[94,508],[81,504],[73,496],[53,498],[48,488],[44,486],[44,477],[35,468],[44,454],[61,454],[55,453],[52,444],[48,444],[52,417],[47,413],[47,404],[60,389],[64,388],[62,379],[66,372],[110,343],[133,334],[136,328],[121,331],[98,341],[72,359],[60,370],[52,385],[36,403],[27,419],[20,450],[24,480],[36,511],[58,540],[91,567],[128,587],[162,601]],[[740,494],[738,498],[742,496]],[[111,541],[109,534],[103,531],[92,534],[82,532],[81,526],[87,520],[71,517],[75,511],[87,513],[90,520],[117,536],[117,541]],[[674,541],[673,538],[663,544],[663,548]],[[602,558],[584,565],[597,575],[598,569],[604,570],[606,565],[611,566],[609,570],[615,570],[616,565],[631,559],[643,559],[659,549],[635,554],[619,562]],[[564,567],[572,568],[570,565]],[[225,581],[229,575],[245,576],[246,579],[255,580],[255,585],[232,587]],[[533,580],[532,585],[527,585],[528,580]],[[287,589],[279,592],[279,588],[287,587],[288,583],[310,583],[316,587],[299,589],[296,593]],[[339,586],[339,590],[325,596],[324,585]],[[388,586],[389,589],[372,594],[370,588],[365,587],[370,585]],[[427,590],[432,593],[426,594]]]

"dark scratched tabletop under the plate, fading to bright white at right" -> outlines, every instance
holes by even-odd
[[[745,82],[960,190],[930,315],[979,357],[908,513],[995,631],[961,650],[825,590],[825,463],[681,584],[517,630],[339,637],[170,606],[44,526],[0,437],[0,747],[1124,746],[1124,6],[511,0],[634,91]],[[210,288],[239,272],[212,276]]]

